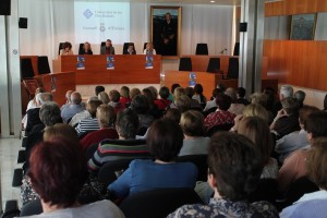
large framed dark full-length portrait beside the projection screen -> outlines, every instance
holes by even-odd
[[[150,38],[157,55],[179,57],[182,8],[152,7],[150,10]]]

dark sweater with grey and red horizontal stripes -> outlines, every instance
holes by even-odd
[[[150,157],[144,140],[104,140],[88,160],[90,172],[97,172],[102,165],[119,159]]]

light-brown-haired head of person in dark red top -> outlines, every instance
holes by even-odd
[[[100,105],[97,108],[97,119],[100,128],[113,126],[116,121],[114,109],[108,105]]]

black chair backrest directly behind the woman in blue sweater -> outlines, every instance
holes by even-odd
[[[159,189],[126,197],[120,209],[126,218],[167,217],[185,204],[203,204],[193,189]]]

